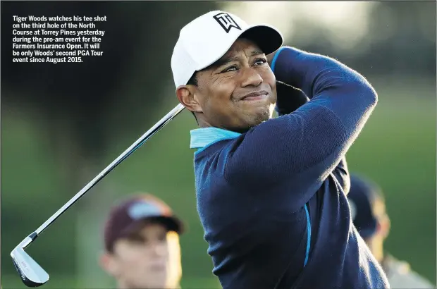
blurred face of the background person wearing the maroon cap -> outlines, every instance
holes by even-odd
[[[159,223],[145,224],[116,241],[102,265],[120,288],[177,288],[180,277],[178,234]]]

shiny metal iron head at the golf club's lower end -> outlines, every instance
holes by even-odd
[[[49,281],[49,274],[18,245],[12,252],[13,265],[27,287],[38,287]]]

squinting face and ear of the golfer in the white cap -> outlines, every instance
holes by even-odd
[[[238,39],[219,61],[197,72],[197,86],[178,89],[178,98],[197,112],[201,126],[244,132],[271,118],[276,78],[256,44]]]

